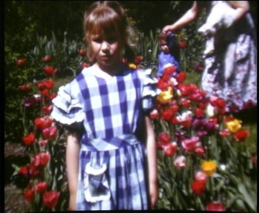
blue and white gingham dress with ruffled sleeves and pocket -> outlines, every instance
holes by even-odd
[[[84,123],[77,210],[148,209],[146,148],[140,136],[156,95],[149,74],[124,66],[121,75],[106,79],[93,67],[84,68],[52,100],[52,118]]]

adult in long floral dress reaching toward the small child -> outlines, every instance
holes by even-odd
[[[194,1],[178,21],[164,26],[162,32],[183,28],[194,21],[203,9],[207,12],[207,22],[199,31],[204,33],[207,41],[202,89],[209,98],[224,98],[228,112],[256,107],[256,30],[248,1]]]

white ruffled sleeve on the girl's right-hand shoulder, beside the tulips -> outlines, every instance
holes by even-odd
[[[157,79],[151,75],[151,68],[144,71],[144,82],[142,91],[142,107],[145,114],[149,114],[153,107],[155,107],[155,101],[159,94],[157,89]]]

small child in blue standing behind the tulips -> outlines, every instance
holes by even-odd
[[[158,55],[157,77],[163,75],[166,64],[173,64],[177,68],[176,72],[180,73],[182,71],[182,67],[179,64],[180,48],[173,32],[167,34],[161,32],[158,39],[160,41],[161,53]]]

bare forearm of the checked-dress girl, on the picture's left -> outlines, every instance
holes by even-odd
[[[75,134],[68,135],[66,145],[66,170],[70,192],[69,210],[75,210],[77,198],[77,178],[79,167],[79,139]]]

